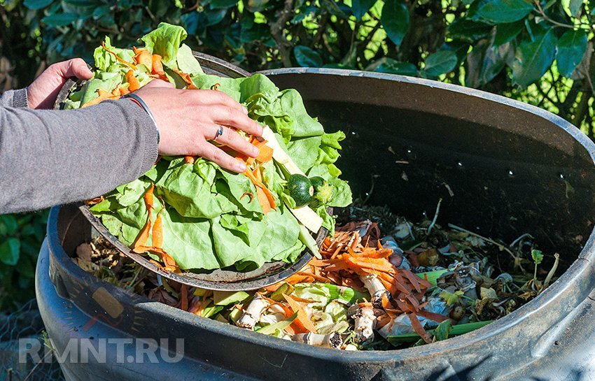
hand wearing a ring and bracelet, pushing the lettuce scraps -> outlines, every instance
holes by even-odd
[[[160,154],[201,156],[230,171],[244,172],[246,164],[209,141],[214,141],[217,131],[227,126],[216,142],[257,157],[258,148],[229,128],[262,135],[262,127],[248,117],[248,110],[223,92],[180,90],[170,86],[167,82],[153,80],[134,92],[155,118],[160,132]]]

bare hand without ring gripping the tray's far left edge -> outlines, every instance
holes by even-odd
[[[64,82],[70,77],[88,80],[93,73],[83,59],[75,58],[57,62],[45,69],[29,87],[27,87],[27,103],[29,108],[52,108]]]

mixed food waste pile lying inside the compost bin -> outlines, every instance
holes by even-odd
[[[338,210],[321,259],[255,292],[178,284],[101,236],[80,245],[73,260],[102,280],[188,313],[337,350],[446,340],[509,314],[555,279],[558,254],[549,268],[540,266],[544,254],[528,233],[506,244],[454,224],[442,227],[437,212],[413,223],[377,206]]]

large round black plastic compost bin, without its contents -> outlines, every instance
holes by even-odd
[[[111,350],[105,361],[62,364],[67,380],[589,376],[595,367],[595,145],[586,136],[538,108],[430,80],[334,69],[266,74],[281,88],[298,89],[327,129],[346,131],[338,165],[356,196],[365,197],[373,181],[368,202],[411,220],[433,215],[442,198],[439,223],[505,240],[531,233],[545,252],[559,252],[566,271],[524,307],[472,333],[406,350],[343,352],[197,317],[100,282],[70,258],[90,238],[89,224],[76,207],[55,207],[36,292],[57,350],[71,338],[97,346],[115,338],[184,339],[181,361],[128,362],[139,361],[131,344],[124,356]]]

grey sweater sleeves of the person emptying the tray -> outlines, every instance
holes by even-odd
[[[0,214],[91,199],[139,178],[157,159],[157,128],[133,101],[30,110],[18,108],[22,93],[7,93],[0,98]]]

